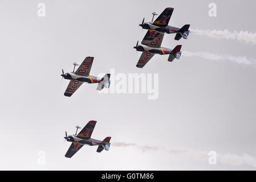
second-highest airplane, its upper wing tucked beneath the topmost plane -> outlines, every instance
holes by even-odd
[[[155,55],[168,55],[168,61],[173,61],[175,58],[180,59],[181,57],[181,45],[176,46],[174,49],[161,47],[162,39],[164,38],[164,33],[157,32],[155,30],[148,30],[147,34],[144,36],[141,44],[138,46],[139,41],[136,46],[133,47],[137,51],[141,51],[140,59],[136,65],[137,68],[143,68],[145,64]]]

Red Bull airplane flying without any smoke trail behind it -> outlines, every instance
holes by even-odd
[[[90,71],[92,67],[92,63],[94,61],[94,57],[86,57],[83,63],[79,66],[75,71],[75,67],[79,64],[74,63],[73,72],[64,73],[62,69],[62,79],[70,80],[70,83],[67,86],[67,89],[64,93],[64,96],[71,97],[72,94],[83,84],[83,82],[87,82],[89,84],[98,83],[96,90],[102,90],[104,87],[109,88],[110,85],[110,74],[106,74],[103,78],[99,78],[96,76],[91,76]]]

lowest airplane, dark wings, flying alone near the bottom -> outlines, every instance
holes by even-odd
[[[104,149],[109,150],[110,147],[110,139],[111,137],[106,137],[103,141],[92,139],[92,131],[94,131],[94,127],[96,125],[97,121],[89,121],[86,126],[79,132],[78,135],[78,129],[81,129],[80,126],[76,126],[76,134],[75,135],[67,135],[66,131],[66,137],[64,137],[64,142],[67,140],[68,142],[72,142],[70,148],[68,148],[68,151],[65,155],[66,158],[71,158],[76,152],[80,150],[84,145],[90,145],[90,146],[99,146],[97,147],[97,152],[101,152]]]

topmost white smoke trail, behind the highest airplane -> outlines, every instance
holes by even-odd
[[[206,35],[212,38],[218,39],[230,39],[230,40],[238,40],[246,43],[256,44],[256,32],[248,32],[248,31],[233,31],[230,32],[228,30],[190,30],[190,34],[194,35]]]

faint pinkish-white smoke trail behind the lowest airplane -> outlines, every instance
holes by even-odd
[[[140,146],[136,143],[125,143],[125,142],[118,142],[112,143],[115,147],[136,147],[142,152],[147,151],[159,151],[164,150],[168,151],[170,154],[173,155],[187,155],[192,156],[196,159],[202,159],[208,161],[209,159],[209,151],[199,151],[199,150],[192,150],[192,149],[180,149],[180,148],[166,148],[160,146]],[[248,154],[236,155],[236,154],[217,154],[217,163],[222,164],[229,164],[233,166],[242,166],[248,165],[251,167],[256,167],[256,158],[250,156]]]

